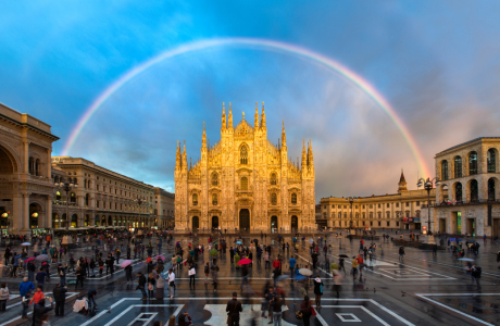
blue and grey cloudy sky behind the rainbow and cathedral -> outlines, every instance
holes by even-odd
[[[499,136],[498,1],[11,1],[0,11],[0,102],[52,125],[60,154],[86,109],[138,64],[186,42],[251,37],[308,48],[357,72],[434,154]],[[161,62],[115,92],[71,151],[174,189],[175,145],[199,158],[265,101],[268,138],[290,156],[312,139],[316,199],[395,192],[417,164],[388,116],[338,74],[265,49],[218,47]],[[227,104],[226,104],[227,105]],[[413,183],[415,180],[415,183]]]

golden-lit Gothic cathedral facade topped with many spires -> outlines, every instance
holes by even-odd
[[[186,145],[177,146],[175,164],[175,228],[179,230],[293,231],[314,229],[314,162],[311,143],[302,161],[288,159],[285,124],[282,143],[267,139],[264,103],[254,124],[245,120],[233,127],[223,104],[221,140],[207,143],[201,159],[187,162]]]

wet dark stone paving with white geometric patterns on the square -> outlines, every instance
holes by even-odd
[[[254,237],[251,237],[252,239]],[[228,243],[235,238],[227,237]],[[260,243],[270,243],[271,239],[260,239]],[[188,239],[174,238],[166,246],[164,253],[172,252],[172,244],[180,240],[187,246]],[[309,240],[309,238],[308,238]],[[249,244],[250,238],[243,238],[245,244]],[[332,244],[328,252],[329,262],[336,261],[338,254],[347,254],[350,258],[358,254],[359,240],[349,241],[346,238],[330,236],[327,239]],[[204,243],[207,237],[199,237],[192,241]],[[292,243],[291,238],[285,237],[285,242]],[[365,243],[370,243],[365,240]],[[405,248],[405,256],[399,261],[398,246],[390,241],[374,241],[378,249],[376,259],[367,262],[368,268],[363,271],[361,281],[359,277],[353,280],[349,275],[351,267],[350,259],[346,260],[347,274],[342,281],[340,299],[332,290],[333,280],[325,266],[325,256],[321,255],[318,268],[314,276],[320,276],[325,285],[322,297],[322,308],[317,315],[311,318],[311,325],[337,325],[343,323],[363,323],[364,325],[500,325],[499,304],[500,269],[496,261],[496,253],[500,246],[496,243],[484,244],[483,240],[479,255],[466,252],[466,258],[475,259],[475,264],[483,268],[482,290],[476,290],[476,285],[471,281],[471,276],[464,271],[464,263],[457,261],[451,251],[439,250],[437,256],[433,253],[416,248]],[[311,261],[309,242],[300,242],[298,263],[308,264]],[[340,249],[341,248],[341,249]],[[122,251],[123,252],[123,251]],[[83,252],[85,253],[85,252]],[[273,246],[273,258],[282,253],[285,256],[284,273],[288,271],[288,258],[295,254],[295,250],[283,252],[278,246]],[[79,256],[76,254],[75,256]],[[170,253],[166,254],[171,256]],[[255,258],[257,254],[253,253]],[[211,283],[204,284],[202,266],[209,261],[205,254],[197,262],[197,284],[189,286],[188,268],[182,268],[176,273],[176,291],[173,300],[166,297],[164,300],[140,300],[140,291],[136,291],[135,284],[127,284],[124,273],[115,273],[102,279],[88,279],[85,289],[96,288],[98,291],[98,312],[95,316],[85,316],[72,311],[74,300],[82,297],[86,291],[72,291],[68,289],[65,317],[55,317],[50,312],[52,325],[152,325],[154,321],[166,324],[168,317],[187,311],[195,325],[225,325],[225,306],[233,291],[238,292],[239,300],[243,303],[240,325],[267,325],[268,318],[261,318],[261,300],[264,286],[270,281],[271,268],[265,268],[264,263],[254,263],[250,268],[250,284],[241,291],[240,271],[230,264],[229,253],[221,255],[217,265],[218,290],[214,291]],[[143,267],[142,261],[137,261],[134,273]],[[343,272],[342,272],[343,273]],[[18,281],[9,281],[9,287],[14,293]],[[21,280],[21,278],[18,278]],[[59,280],[51,281],[50,289]],[[47,287],[47,286],[46,286]],[[287,281],[285,291],[285,312],[283,325],[303,325],[302,321],[295,317],[295,312],[300,308],[303,298],[301,285]],[[51,292],[48,291],[48,292]],[[312,286],[308,293],[312,299]],[[0,326],[3,325],[29,325],[27,321],[20,318],[20,298],[13,296],[8,302],[8,311],[0,313]],[[253,311],[252,311],[253,309]],[[30,312],[33,309],[29,310]],[[267,314],[266,314],[267,315]]]

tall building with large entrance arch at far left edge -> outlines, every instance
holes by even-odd
[[[50,155],[59,138],[50,125],[0,104],[0,227],[30,234],[49,227],[53,183]]]

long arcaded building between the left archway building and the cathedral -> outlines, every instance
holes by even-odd
[[[153,214],[155,188],[151,185],[71,156],[52,158],[52,184],[78,185],[67,193],[61,187],[53,188],[52,218],[47,226],[52,230],[64,230],[67,223],[71,230],[161,225]]]

